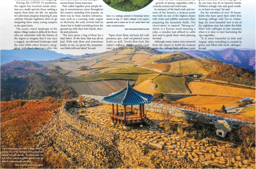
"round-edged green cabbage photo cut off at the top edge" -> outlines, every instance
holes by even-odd
[[[137,11],[145,8],[153,0],[103,0],[108,6],[118,11]]]

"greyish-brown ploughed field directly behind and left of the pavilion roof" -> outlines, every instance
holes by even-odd
[[[132,85],[135,81],[130,81]],[[99,95],[107,96],[112,92],[117,92],[123,89],[127,84],[126,80],[100,80],[88,81],[69,84],[79,95]]]

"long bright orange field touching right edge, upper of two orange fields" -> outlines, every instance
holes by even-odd
[[[255,90],[251,89],[234,88],[230,86],[215,85],[199,81],[192,81],[188,83],[188,87],[193,94],[255,98]]]

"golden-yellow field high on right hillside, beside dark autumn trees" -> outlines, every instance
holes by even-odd
[[[209,75],[212,69],[206,68],[194,60],[181,60],[170,63],[171,68],[168,73],[177,75],[202,74]]]

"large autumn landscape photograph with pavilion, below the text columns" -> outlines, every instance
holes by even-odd
[[[255,168],[255,53],[1,50],[1,168]]]

